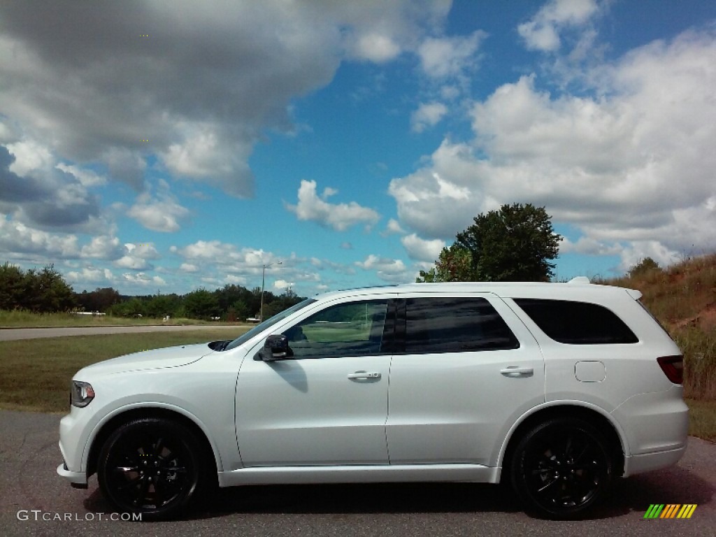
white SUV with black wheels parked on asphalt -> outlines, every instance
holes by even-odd
[[[120,511],[177,516],[217,483],[509,483],[575,518],[677,463],[682,356],[639,291],[409,284],[307,299],[231,342],[85,367],[57,468]]]

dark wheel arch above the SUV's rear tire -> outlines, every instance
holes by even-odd
[[[518,420],[508,432],[507,439],[500,450],[498,467],[508,468],[516,445],[528,430],[539,423],[553,418],[579,418],[596,427],[606,438],[612,448],[614,457],[614,475],[621,476],[624,473],[624,458],[629,454],[627,441],[619,425],[599,407],[585,405],[584,402],[553,401],[548,405],[542,405],[525,414]],[[500,481],[505,475],[500,472]]]

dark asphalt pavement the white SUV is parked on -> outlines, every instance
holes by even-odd
[[[716,445],[697,438],[679,465],[619,481],[606,504],[580,522],[530,518],[498,487],[469,483],[233,488],[183,521],[110,521],[96,478],[77,490],[55,473],[59,418],[0,411],[0,535],[698,537],[716,528]],[[644,520],[650,503],[698,507],[689,520]],[[37,520],[32,510],[40,510]],[[19,520],[19,511],[28,520]]]

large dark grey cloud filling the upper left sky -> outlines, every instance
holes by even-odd
[[[329,83],[344,58],[415,49],[448,11],[448,0],[3,3],[0,110],[61,160],[102,163],[137,191],[158,155],[248,197],[253,147],[267,127],[293,128],[291,100]]]

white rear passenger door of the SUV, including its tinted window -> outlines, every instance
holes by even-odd
[[[399,304],[390,463],[495,465],[511,425],[544,401],[538,344],[494,295],[411,294]]]

